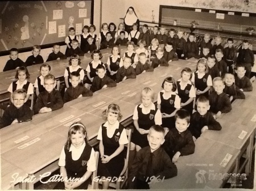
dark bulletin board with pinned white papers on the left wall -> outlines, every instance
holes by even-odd
[[[0,52],[63,42],[70,27],[80,35],[93,23],[93,0],[5,1],[0,11]]]

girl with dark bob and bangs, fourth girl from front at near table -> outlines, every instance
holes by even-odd
[[[167,77],[162,83],[163,90],[158,94],[158,109],[162,114],[162,127],[175,127],[175,113],[180,109],[180,97],[176,94],[176,83],[172,77]]]

